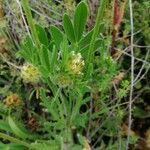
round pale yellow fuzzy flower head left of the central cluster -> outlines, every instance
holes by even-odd
[[[25,64],[21,69],[21,77],[25,82],[37,83],[40,79],[40,72],[32,64]]]

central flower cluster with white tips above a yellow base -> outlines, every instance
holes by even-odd
[[[80,53],[75,54],[74,51],[72,51],[69,62],[68,62],[68,68],[71,73],[75,75],[81,75],[82,70],[85,63]]]

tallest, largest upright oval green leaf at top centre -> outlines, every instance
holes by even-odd
[[[84,2],[81,2],[76,8],[74,16],[74,31],[77,41],[79,41],[82,37],[87,17],[88,17],[87,5]]]

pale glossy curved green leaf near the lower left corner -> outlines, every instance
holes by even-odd
[[[11,130],[13,131],[13,133],[15,135],[17,135],[18,137],[22,138],[22,139],[26,139],[28,137],[28,134],[25,133],[24,131],[22,131],[17,125],[16,123],[13,121],[13,119],[8,116],[8,124],[11,128]]]

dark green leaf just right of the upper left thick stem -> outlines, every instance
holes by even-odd
[[[48,46],[48,38],[47,38],[47,34],[45,32],[45,29],[43,29],[43,27],[41,27],[38,24],[36,24],[35,27],[36,27],[38,38],[39,38],[39,41],[41,42],[41,44]]]

